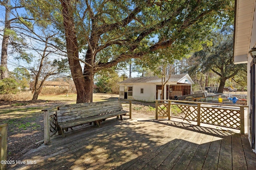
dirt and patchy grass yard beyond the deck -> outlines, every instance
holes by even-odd
[[[100,94],[97,94],[100,95]],[[97,98],[118,99],[117,96],[102,94]],[[74,101],[38,100],[0,102],[0,124],[8,124],[7,160],[18,160],[20,156],[42,145],[44,140],[44,118],[41,111],[46,107],[70,104]],[[129,111],[128,104],[123,104]],[[154,118],[155,104],[148,102],[132,102],[132,118]],[[129,115],[126,116],[127,118]]]

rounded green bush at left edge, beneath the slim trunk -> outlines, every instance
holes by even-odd
[[[0,80],[0,94],[16,94],[18,92],[18,83],[13,78],[4,78]]]

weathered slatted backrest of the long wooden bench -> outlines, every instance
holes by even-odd
[[[122,109],[122,104],[118,100],[64,105],[58,107],[57,120],[60,123],[74,119],[81,119],[84,117],[91,117],[104,113],[120,111]]]

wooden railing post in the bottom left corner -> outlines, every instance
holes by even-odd
[[[0,155],[1,161],[7,158],[7,124],[0,125]],[[0,164],[0,170],[6,170],[6,163]]]

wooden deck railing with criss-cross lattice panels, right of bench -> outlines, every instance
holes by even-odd
[[[247,106],[188,102],[177,100],[156,100],[156,119],[172,115],[172,106],[176,105],[185,115],[183,120],[196,121],[212,125],[220,125],[240,129],[244,134],[244,109]]]

